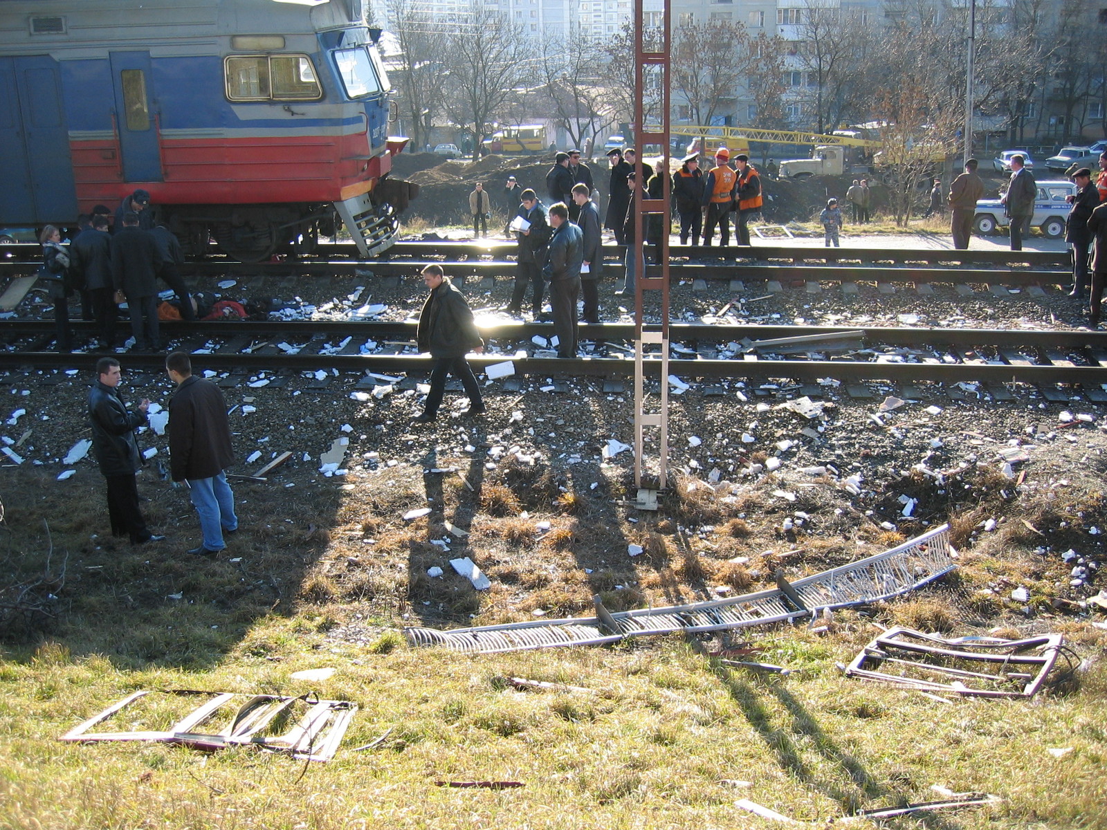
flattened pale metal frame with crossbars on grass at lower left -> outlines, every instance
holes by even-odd
[[[178,717],[183,713],[174,705],[174,697],[192,697],[200,703],[184,714],[184,717]],[[162,720],[170,717],[173,723],[163,729],[90,732],[92,727],[124,710],[128,724],[133,718],[142,718],[143,715],[135,712],[139,708],[139,702],[148,704],[147,716]],[[254,746],[269,751],[290,753],[300,760],[325,761],[334,757],[356,710],[358,705],[349,701],[320,701],[313,694],[281,697],[194,689],[142,691],[127,695],[93,715],[60,739],[77,743],[153,740],[208,751],[231,746]],[[215,726],[217,730],[200,732],[204,726]]]

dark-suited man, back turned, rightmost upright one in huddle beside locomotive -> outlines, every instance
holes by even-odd
[[[162,347],[157,328],[157,272],[162,253],[157,242],[138,227],[138,214],[123,215],[123,229],[112,237],[112,283],[127,298],[131,310],[131,333],[136,352]]]

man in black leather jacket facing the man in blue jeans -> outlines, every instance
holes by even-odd
[[[142,464],[135,429],[146,423],[149,401],[144,397],[136,412],[127,409],[118,392],[122,377],[117,360],[101,357],[96,362],[96,381],[89,392],[92,447],[100,471],[107,481],[107,516],[113,536],[126,533],[132,544],[159,542],[165,537],[154,536],[146,528],[146,520],[138,509],[138,487],[135,483],[135,474]]]

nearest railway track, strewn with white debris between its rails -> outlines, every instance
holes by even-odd
[[[75,330],[91,335],[92,324]],[[4,321],[0,370],[87,367],[100,354],[45,351],[51,332],[51,322]],[[414,322],[170,323],[164,332],[174,349],[203,354],[206,367],[231,375],[334,369],[423,376],[431,365],[415,353]],[[670,373],[687,378],[1022,383],[1048,400],[1083,392],[1107,401],[1107,332],[674,324],[670,333]],[[535,345],[532,338],[554,334],[548,323],[486,325],[483,334],[488,353],[472,359],[478,370],[509,360],[518,375],[633,374],[630,324],[581,325],[590,354],[576,360],[545,356],[550,352]],[[158,371],[164,355],[128,353],[126,360]]]

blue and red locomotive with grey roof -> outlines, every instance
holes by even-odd
[[[415,195],[379,37],[362,0],[0,0],[0,225],[141,188],[195,250],[377,253]]]

